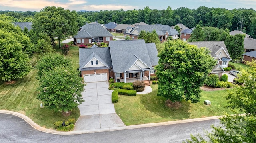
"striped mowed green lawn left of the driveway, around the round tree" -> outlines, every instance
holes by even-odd
[[[57,49],[57,51],[61,51],[61,49]],[[79,66],[78,47],[70,47],[70,52],[67,56],[71,57],[74,69],[76,69]],[[35,65],[36,62],[36,58],[31,61],[32,65]],[[26,78],[15,80],[14,84],[6,84],[0,80],[0,110],[20,112],[38,125],[49,129],[54,129],[53,123],[58,120],[63,121],[68,118],[77,120],[80,116],[78,108],[74,109],[71,115],[66,118],[60,112],[54,112],[48,108],[40,108],[41,102],[36,99],[38,94],[36,90],[38,87],[36,75],[37,70],[33,66]]]

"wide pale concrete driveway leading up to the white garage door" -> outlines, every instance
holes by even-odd
[[[78,106],[80,117],[74,131],[125,126],[111,101],[112,90],[106,82],[87,83],[82,93],[85,102]]]

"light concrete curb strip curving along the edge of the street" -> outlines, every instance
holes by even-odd
[[[124,130],[124,129],[137,129],[142,127],[156,127],[161,125],[173,125],[178,123],[190,123],[190,122],[196,122],[196,121],[206,121],[206,120],[212,120],[212,119],[219,119],[222,116],[212,116],[212,117],[205,117],[205,118],[195,118],[195,119],[184,119],[184,120],[178,120],[178,121],[167,121],[167,122],[161,122],[161,123],[147,123],[147,124],[141,124],[141,125],[129,125],[129,126],[122,126],[122,127],[110,127],[110,128],[103,128],[103,129],[91,129],[91,130],[84,130],[84,131],[69,131],[69,132],[62,132],[62,131],[55,131],[52,129],[46,129],[44,127],[41,127],[37,125],[32,119],[28,118],[28,116],[13,112],[13,111],[7,111],[7,110],[0,110],[0,113],[4,114],[11,114],[14,116],[18,116],[22,119],[24,119],[28,124],[30,124],[34,129],[37,129],[38,131],[42,131],[44,133],[51,133],[51,134],[57,134],[57,135],[75,135],[75,134],[83,134],[83,133],[96,133],[96,132],[103,132],[103,131],[117,131],[117,130]],[[245,115],[245,114],[241,114]]]

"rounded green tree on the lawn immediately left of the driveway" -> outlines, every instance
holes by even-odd
[[[74,69],[54,67],[43,70],[39,83],[38,99],[42,100],[44,106],[56,112],[67,113],[84,102],[82,98],[84,83]]]

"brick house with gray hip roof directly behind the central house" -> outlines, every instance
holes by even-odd
[[[91,43],[108,43],[113,40],[113,35],[104,29],[100,24],[90,23],[81,27],[74,38],[75,45],[91,44]]]

